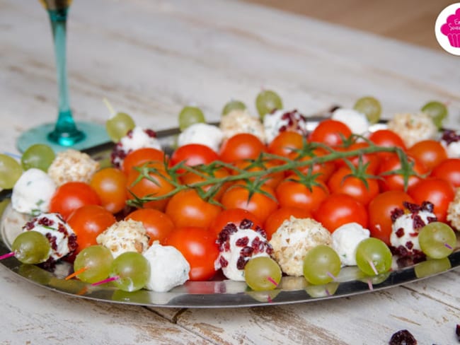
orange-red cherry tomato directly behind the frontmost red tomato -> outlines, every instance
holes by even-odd
[[[165,213],[176,228],[183,226],[209,228],[220,211],[222,211],[220,206],[201,199],[195,189],[185,189],[171,198]]]

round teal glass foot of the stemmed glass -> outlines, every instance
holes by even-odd
[[[46,144],[50,146],[54,152],[64,151],[68,148],[75,150],[84,150],[99,144],[110,141],[105,125],[96,124],[94,122],[76,122],[74,131],[68,134],[60,134],[59,137],[53,138],[55,123],[41,124],[38,127],[24,131],[19,136],[16,145],[18,150],[24,152],[33,144]],[[50,138],[51,136],[51,138]],[[75,143],[78,137],[80,140]]]

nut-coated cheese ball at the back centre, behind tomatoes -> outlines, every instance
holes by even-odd
[[[247,110],[232,110],[227,115],[222,116],[220,129],[224,134],[223,139],[240,133],[250,133],[258,137],[265,143],[265,129],[259,117],[255,117]]]

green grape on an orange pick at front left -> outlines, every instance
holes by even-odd
[[[87,283],[96,283],[109,276],[112,262],[112,252],[108,248],[102,245],[91,245],[76,255],[74,271],[85,269],[81,274],[77,274],[77,277]]]

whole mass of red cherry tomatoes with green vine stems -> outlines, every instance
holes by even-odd
[[[449,203],[460,186],[460,159],[447,158],[435,140],[406,148],[401,137],[388,129],[372,132],[368,141],[352,138],[343,122],[326,119],[307,138],[282,131],[263,144],[252,134],[236,134],[218,153],[201,144],[180,146],[170,156],[155,148],[139,148],[120,168],[103,168],[88,184],[68,182],[59,187],[50,211],[67,219],[79,250],[96,244],[97,235],[120,218],[141,221],[151,242],[159,240],[183,253],[191,266],[191,280],[214,276],[217,235],[226,223],[239,224],[243,218],[253,221],[254,228],[265,229],[269,240],[285,219],[296,216],[315,218],[331,233],[345,223],[360,223],[387,244],[391,211],[401,208],[403,201],[431,201],[438,220],[446,222]],[[401,151],[343,158],[369,146]],[[330,159],[295,169],[277,168],[321,156]],[[177,165],[200,169],[171,173]],[[211,183],[217,180],[221,182]],[[187,187],[197,184],[202,187]],[[203,194],[212,198],[203,199]],[[129,207],[130,200],[141,200],[143,205]]]

